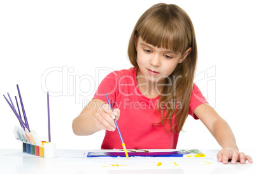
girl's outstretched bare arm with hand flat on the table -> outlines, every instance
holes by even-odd
[[[232,159],[232,164],[235,164],[236,161],[245,164],[246,160],[252,163],[252,157],[239,152],[236,139],[229,124],[209,104],[199,105],[194,110],[194,114],[199,117],[222,147],[222,150],[217,154],[219,162],[227,164],[229,159]]]

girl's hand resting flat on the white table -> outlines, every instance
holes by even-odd
[[[229,159],[231,159],[231,164],[236,164],[236,161],[240,161],[241,164],[245,164],[245,161],[248,160],[249,163],[252,163],[252,157],[245,155],[243,152],[239,152],[236,148],[225,147],[217,154],[218,162],[227,164]]]

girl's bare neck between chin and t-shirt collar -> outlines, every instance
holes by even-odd
[[[164,86],[160,85],[159,82],[152,82],[146,79],[139,70],[137,71],[136,79],[139,91],[147,98],[158,97],[164,89]]]

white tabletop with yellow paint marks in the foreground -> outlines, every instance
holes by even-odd
[[[0,149],[0,173],[256,173],[255,164],[218,163],[218,150],[201,150],[206,157],[83,157],[88,150],[56,150],[56,157]],[[256,160],[256,149],[244,150]]]

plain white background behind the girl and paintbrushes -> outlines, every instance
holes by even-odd
[[[255,149],[255,3],[220,0],[1,1],[0,148],[22,148],[13,135],[19,123],[3,97],[9,92],[15,100],[19,84],[29,126],[42,140],[48,140],[48,88],[57,149],[100,149],[104,131],[78,137],[72,121],[106,74],[131,67],[132,29],[159,2],[187,11],[199,51],[195,81],[231,126],[239,148]],[[183,130],[177,149],[220,149],[201,121],[188,116]]]

